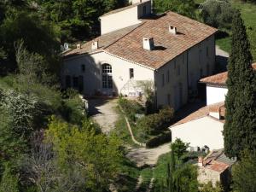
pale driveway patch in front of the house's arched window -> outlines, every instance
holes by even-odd
[[[117,99],[91,99],[89,100],[89,114],[92,119],[102,127],[102,132],[108,134],[114,129],[118,114],[114,108]]]

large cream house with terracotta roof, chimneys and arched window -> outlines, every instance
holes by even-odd
[[[102,35],[63,56],[63,87],[85,96],[142,96],[154,84],[157,106],[180,108],[215,65],[215,28],[173,12],[151,14],[150,1],[100,17]]]

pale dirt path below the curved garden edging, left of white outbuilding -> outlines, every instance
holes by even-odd
[[[135,162],[138,167],[154,166],[161,154],[171,151],[170,144],[166,143],[157,148],[129,148],[126,156]]]

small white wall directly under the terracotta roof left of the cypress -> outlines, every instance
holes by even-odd
[[[227,93],[227,88],[212,87],[207,85],[207,105],[212,105],[217,102],[224,102]]]

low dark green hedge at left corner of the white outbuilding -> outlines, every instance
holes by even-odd
[[[166,131],[161,133],[159,136],[149,139],[148,142],[146,143],[146,147],[154,148],[154,147],[160,146],[161,144],[171,142],[171,140],[172,140],[171,131]]]

